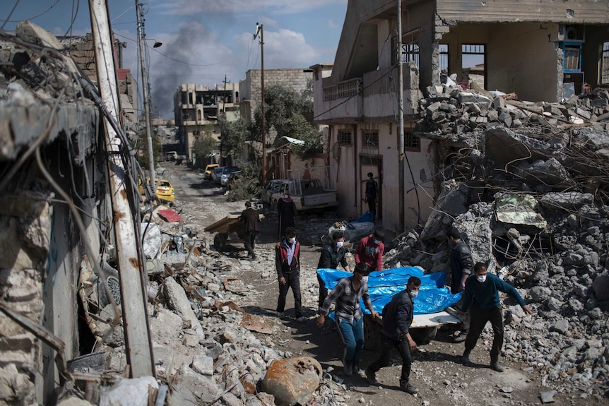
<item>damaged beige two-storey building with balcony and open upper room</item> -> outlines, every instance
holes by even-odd
[[[403,1],[401,51],[396,2],[349,1],[332,66],[314,69],[314,116],[329,124],[341,213],[365,212],[368,172],[383,190],[379,213],[394,232],[398,184],[397,58],[403,64],[408,227],[421,225],[439,196],[449,154],[420,133],[419,100],[442,74],[456,83],[500,90],[519,100],[558,102],[608,85],[609,4],[599,1]],[[329,74],[331,69],[331,74]],[[425,129],[423,129],[425,131]],[[355,172],[355,179],[353,174]]]

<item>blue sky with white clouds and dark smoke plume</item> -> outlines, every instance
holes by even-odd
[[[261,68],[256,23],[264,27],[265,69],[333,63],[347,1],[140,0],[153,113],[173,119],[172,97],[182,83],[222,87],[225,78],[238,83],[249,69]],[[130,69],[140,83],[136,1],[107,0],[107,4],[112,30],[117,40],[126,43],[123,68]],[[85,35],[90,32],[89,1],[0,0],[4,30],[15,30],[21,20],[58,36]],[[153,48],[155,41],[162,46]]]

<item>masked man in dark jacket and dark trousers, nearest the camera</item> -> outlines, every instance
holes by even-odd
[[[416,276],[408,278],[406,289],[391,298],[383,308],[383,327],[381,329],[381,357],[372,362],[366,369],[366,378],[370,385],[378,385],[377,371],[391,365],[391,350],[395,347],[402,357],[402,373],[400,376],[400,389],[414,395],[418,388],[410,383],[410,368],[413,356],[410,353],[417,349],[417,344],[410,337],[408,329],[413,323],[415,304],[413,299],[419,294],[421,280]]]

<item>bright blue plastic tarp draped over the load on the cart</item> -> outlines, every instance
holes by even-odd
[[[318,269],[317,273],[330,290],[343,277],[353,275],[344,270],[328,268]],[[406,283],[408,283],[408,278],[411,276],[416,276],[421,280],[419,294],[414,299],[415,314],[437,313],[456,304],[461,299],[461,293],[451,294],[450,289],[444,287],[447,277],[445,273],[439,272],[423,275],[423,271],[420,268],[403,266],[401,268],[378,270],[370,273],[368,277],[368,294],[370,295],[370,300],[372,300],[374,310],[381,314],[383,306],[391,300],[391,297],[406,289]],[[370,313],[368,309],[365,309],[363,301],[360,303],[360,306],[364,313]]]

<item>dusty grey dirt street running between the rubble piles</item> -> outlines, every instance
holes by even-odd
[[[199,236],[213,241],[213,235],[204,232],[206,226],[228,214],[237,214],[244,209],[244,202],[228,202],[225,189],[213,181],[203,180],[202,174],[184,165],[164,165],[163,177],[170,179],[175,186],[177,201],[175,210],[184,217],[184,227],[191,228]],[[160,169],[160,172],[162,169]],[[274,247],[278,241],[277,221],[268,208],[261,222],[261,232],[257,239],[257,261],[249,261],[242,244],[229,246],[225,253],[232,273],[241,275],[248,288],[242,301],[237,303],[243,309],[261,316],[275,317],[278,295],[278,282],[274,268]],[[329,321],[324,328],[318,328],[315,321],[317,309],[317,278],[315,270],[319,260],[319,246],[312,242],[341,218],[308,215],[297,219],[296,228],[301,242],[301,289],[302,305],[305,308],[305,323],[293,318],[278,319],[282,328],[273,335],[278,350],[292,356],[314,357],[338,383],[336,402],[347,405],[534,405],[541,404],[540,393],[553,388],[544,386],[538,371],[524,364],[512,362],[502,357],[500,362],[506,370],[503,373],[492,371],[489,367],[490,342],[480,339],[472,352],[472,366],[459,362],[463,353],[463,343],[451,340],[452,328],[440,330],[436,338],[421,345],[414,352],[415,362],[410,381],[419,388],[417,395],[403,393],[398,388],[399,365],[382,369],[377,373],[379,386],[369,386],[360,376],[346,377],[342,374],[340,362],[342,343],[335,325]],[[353,267],[355,261],[350,256]],[[293,316],[293,299],[288,293],[286,313]],[[534,318],[528,316],[528,322]],[[490,326],[487,326],[490,328]],[[506,326],[506,329],[512,328]],[[365,349],[362,354],[362,369],[377,357],[374,350]],[[342,381],[342,382],[341,382]],[[340,384],[343,384],[341,387]],[[606,405],[606,399],[586,396],[577,390],[571,393],[558,393],[555,405]]]

